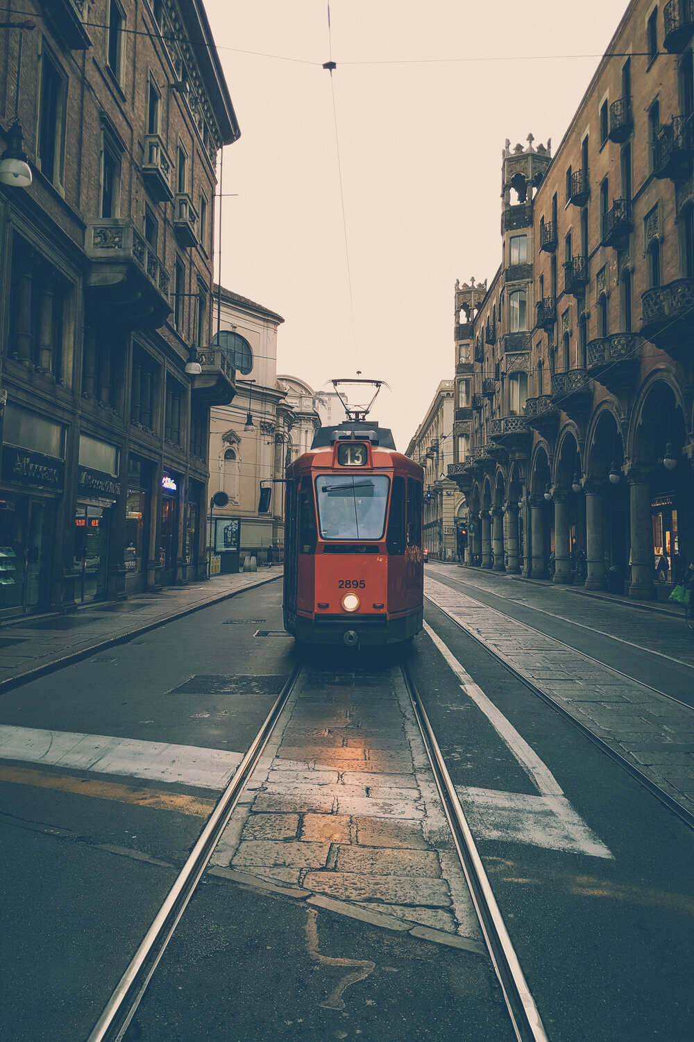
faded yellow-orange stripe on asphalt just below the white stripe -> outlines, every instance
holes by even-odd
[[[71,774],[49,774],[27,767],[0,767],[0,782],[35,786],[40,789],[57,789],[60,792],[74,792],[80,796],[110,799],[118,803],[152,807],[157,811],[175,811],[195,818],[208,818],[215,803],[213,799],[201,799],[199,796],[186,796],[183,793],[144,789],[98,778],[79,778]]]

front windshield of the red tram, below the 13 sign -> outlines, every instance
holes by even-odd
[[[390,478],[322,474],[315,479],[320,539],[382,539]]]

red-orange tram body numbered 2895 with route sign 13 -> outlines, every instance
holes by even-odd
[[[423,615],[421,467],[362,418],[287,468],[284,628],[307,644],[397,644]]]

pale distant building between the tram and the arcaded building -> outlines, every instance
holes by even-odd
[[[423,546],[431,557],[455,561],[467,524],[465,499],[447,477],[454,458],[454,381],[441,380],[405,453],[425,469]]]

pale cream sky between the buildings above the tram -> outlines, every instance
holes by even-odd
[[[387,380],[405,451],[453,378],[456,279],[499,264],[504,143],[556,152],[625,0],[331,0],[339,167],[327,0],[205,6],[241,128],[222,284],[284,317],[278,372]]]

